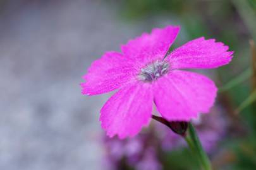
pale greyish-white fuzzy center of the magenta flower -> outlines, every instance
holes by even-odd
[[[168,72],[169,64],[163,61],[155,61],[142,68],[138,78],[144,82],[152,82]]]

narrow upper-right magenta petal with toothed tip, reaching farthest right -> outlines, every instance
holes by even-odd
[[[223,43],[201,37],[177,48],[168,59],[173,69],[211,69],[228,64],[232,54]]]

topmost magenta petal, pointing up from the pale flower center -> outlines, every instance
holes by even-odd
[[[155,28],[152,33],[143,33],[142,36],[130,40],[121,49],[124,55],[141,61],[150,61],[157,57],[164,57],[180,31],[179,26]]]

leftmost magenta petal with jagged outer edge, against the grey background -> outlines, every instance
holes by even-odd
[[[118,52],[106,52],[101,59],[92,63],[83,76],[82,93],[95,95],[120,88],[136,74],[132,62]]]

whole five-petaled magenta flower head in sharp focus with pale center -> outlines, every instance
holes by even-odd
[[[152,103],[169,121],[190,121],[209,112],[217,88],[209,78],[180,69],[212,69],[228,64],[228,46],[204,37],[164,55],[179,26],[155,28],[130,40],[121,53],[106,52],[83,77],[82,93],[95,95],[119,89],[102,107],[102,128],[109,137],[132,137],[148,125]]]

